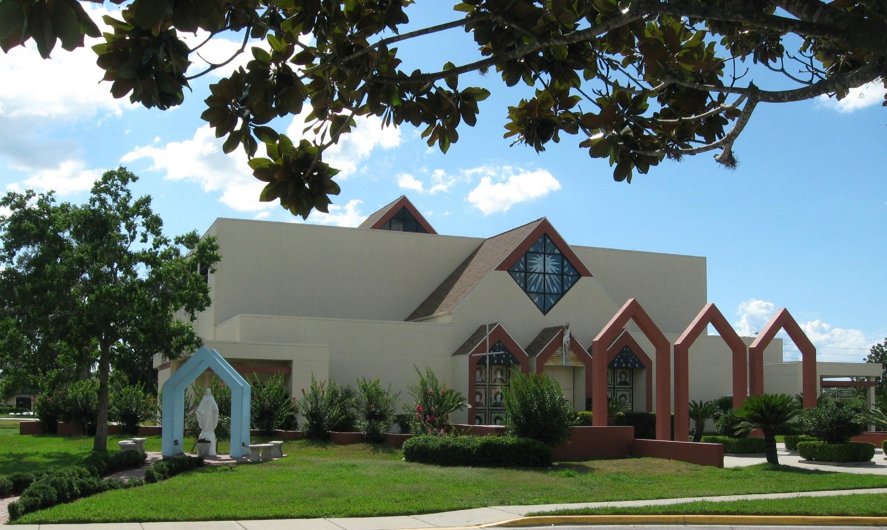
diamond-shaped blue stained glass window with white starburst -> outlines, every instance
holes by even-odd
[[[538,238],[508,269],[508,274],[543,314],[547,314],[579,279],[576,268],[547,235]]]

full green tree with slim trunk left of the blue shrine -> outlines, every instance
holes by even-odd
[[[201,344],[188,319],[208,307],[200,264],[219,260],[215,239],[162,233],[137,176],[108,171],[87,204],[9,192],[0,207],[0,370],[20,379],[43,370],[98,367],[94,448],[105,450],[108,377],[133,352],[174,359]],[[44,364],[45,363],[45,364]]]

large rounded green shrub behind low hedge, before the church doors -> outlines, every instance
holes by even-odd
[[[508,433],[557,445],[568,440],[577,413],[563,399],[561,385],[547,374],[514,371],[505,392]]]

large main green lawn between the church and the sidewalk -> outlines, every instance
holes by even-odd
[[[546,470],[438,467],[384,446],[287,442],[275,462],[208,467],[21,518],[79,523],[361,517],[491,505],[887,487],[887,477],[759,464],[717,469],[654,458],[555,464]]]

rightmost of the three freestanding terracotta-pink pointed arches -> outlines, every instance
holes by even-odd
[[[806,333],[797,325],[789,310],[781,308],[770,322],[757,335],[749,347],[749,384],[752,395],[764,394],[764,350],[780,330],[785,330],[801,350],[801,389],[804,393],[804,408],[816,407],[816,347]]]

